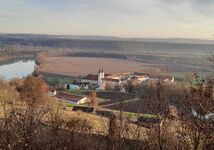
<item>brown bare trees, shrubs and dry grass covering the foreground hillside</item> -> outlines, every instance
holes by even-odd
[[[197,77],[196,77],[197,79]],[[197,80],[189,90],[175,89],[181,111],[172,115],[167,87],[161,83],[142,85],[140,95],[149,112],[142,120],[156,119],[145,126],[129,120],[137,113],[96,113],[63,110],[61,103],[47,96],[47,86],[39,77],[29,76],[11,81],[0,80],[0,148],[1,149],[78,149],[78,150],[207,150],[213,149],[213,120],[201,116],[213,112],[213,78]],[[150,92],[148,92],[150,91]],[[142,104],[135,106],[140,108]],[[97,106],[99,107],[99,106]],[[99,111],[99,109],[97,109]],[[179,111],[180,112],[180,111]],[[152,116],[152,117],[151,117]],[[153,117],[154,116],[154,117]]]

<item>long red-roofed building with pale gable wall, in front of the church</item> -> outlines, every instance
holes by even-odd
[[[85,96],[80,96],[76,94],[70,94],[70,93],[65,93],[65,92],[58,92],[56,94],[56,97],[70,102],[70,103],[76,103],[76,104],[85,104],[85,103],[90,103],[91,100]]]

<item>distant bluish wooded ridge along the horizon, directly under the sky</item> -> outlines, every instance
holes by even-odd
[[[176,53],[201,55],[214,51],[214,41],[198,39],[139,39],[102,36],[54,36],[34,34],[0,34],[0,46],[21,45],[49,48],[72,48],[115,51],[132,54]]]

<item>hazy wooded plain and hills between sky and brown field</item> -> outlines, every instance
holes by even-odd
[[[214,41],[197,39],[125,39],[102,36],[0,34],[0,61],[49,56],[107,57],[161,65],[172,71],[210,71]]]

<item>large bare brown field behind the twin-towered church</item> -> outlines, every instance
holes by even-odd
[[[39,71],[79,76],[97,74],[99,68],[103,68],[106,73],[142,72],[157,74],[161,72],[161,68],[152,64],[132,60],[91,57],[48,57]]]

